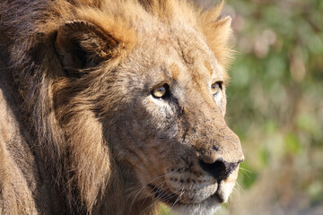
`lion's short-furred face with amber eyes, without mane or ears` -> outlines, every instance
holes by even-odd
[[[117,69],[127,103],[114,151],[135,171],[137,199],[209,214],[228,200],[243,154],[223,118],[226,80],[213,52],[195,30],[171,31],[146,37]]]

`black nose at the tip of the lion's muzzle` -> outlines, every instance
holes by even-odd
[[[242,160],[241,160],[242,161]],[[199,164],[205,172],[214,176],[217,180],[221,181],[226,179],[231,172],[238,167],[241,162],[226,162],[222,158],[216,159],[214,163],[205,163],[202,159],[199,160]]]

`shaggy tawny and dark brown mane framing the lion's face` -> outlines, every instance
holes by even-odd
[[[64,213],[94,213],[109,193],[124,199],[124,193],[118,193],[123,184],[110,155],[109,135],[105,134],[109,131],[99,120],[100,115],[118,114],[121,98],[118,86],[111,83],[114,88],[102,90],[98,89],[100,82],[113,82],[116,66],[153,22],[188,23],[204,35],[218,64],[226,68],[231,58],[231,30],[230,18],[220,17],[222,8],[220,4],[204,11],[180,0],[0,3],[1,88],[9,106],[15,107],[13,115],[22,139],[34,158],[44,162],[39,165],[40,175],[48,175],[54,187],[51,192],[61,202],[53,207],[61,207]],[[74,28],[83,31],[71,33]],[[99,39],[92,39],[93,31],[101,35]],[[83,39],[79,46],[90,50],[88,64],[95,67],[82,70],[95,70],[86,77],[74,73],[84,65],[75,60],[69,47],[79,38]],[[70,54],[63,59],[68,65],[64,67],[60,55]],[[65,71],[81,78],[66,77]],[[113,127],[114,123],[108,124]],[[124,203],[110,206],[118,208]]]

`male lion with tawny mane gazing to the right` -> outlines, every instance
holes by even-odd
[[[212,214],[244,159],[225,123],[223,3],[3,0],[0,214]]]

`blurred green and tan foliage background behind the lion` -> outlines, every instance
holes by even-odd
[[[238,51],[227,122],[246,159],[217,214],[323,215],[323,1],[226,0],[224,13]]]

